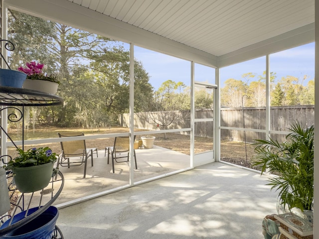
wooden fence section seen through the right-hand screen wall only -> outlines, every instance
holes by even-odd
[[[266,108],[222,108],[220,125],[246,129],[266,129]],[[315,122],[315,106],[281,106],[270,108],[270,130],[289,131],[292,123],[299,121],[303,127]],[[245,127],[244,127],[245,122]],[[221,129],[221,140],[254,142],[265,139],[266,134],[249,130]],[[285,134],[271,134],[272,139],[284,140]]]

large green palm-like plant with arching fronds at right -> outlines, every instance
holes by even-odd
[[[279,191],[280,203],[289,210],[312,210],[314,201],[314,125],[303,128],[292,124],[282,143],[277,140],[255,140],[257,153],[254,165],[275,174],[268,179]]]

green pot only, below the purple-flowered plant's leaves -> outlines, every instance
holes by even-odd
[[[48,186],[53,172],[54,163],[46,163],[32,167],[13,168],[13,179],[21,193],[30,193]]]

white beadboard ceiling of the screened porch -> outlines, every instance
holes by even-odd
[[[315,22],[315,0],[68,1],[215,56]]]

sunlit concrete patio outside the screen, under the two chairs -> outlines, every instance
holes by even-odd
[[[59,168],[64,175],[64,187],[54,205],[81,200],[129,184],[128,162],[115,163],[115,173],[112,173],[112,162],[107,164],[104,153],[104,150],[99,150],[98,157],[94,154],[93,167],[91,159],[88,161],[86,178],[83,178],[84,164]],[[150,149],[137,149],[136,157],[138,169],[134,169],[135,182],[188,168],[190,161],[189,155],[156,145]]]

